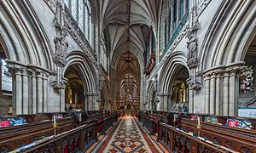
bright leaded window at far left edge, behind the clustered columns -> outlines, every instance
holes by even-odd
[[[12,77],[6,67],[6,62],[2,59],[2,91],[3,93],[12,92]]]

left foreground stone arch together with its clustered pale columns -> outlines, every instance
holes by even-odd
[[[1,1],[0,8],[0,43],[15,87],[13,114],[50,112],[49,70],[55,64],[44,28],[28,1]]]

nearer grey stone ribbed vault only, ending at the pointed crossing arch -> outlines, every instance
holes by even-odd
[[[150,31],[157,31],[161,0],[101,0],[100,29],[106,37],[110,61],[130,51],[143,64]],[[155,33],[155,32],[154,32]]]

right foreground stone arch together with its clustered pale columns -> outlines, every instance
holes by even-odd
[[[256,35],[255,4],[254,1],[224,1],[218,8],[199,51],[205,105],[191,112],[238,115],[239,77],[247,50]],[[202,93],[198,92],[198,97],[192,101],[197,103],[200,96]]]

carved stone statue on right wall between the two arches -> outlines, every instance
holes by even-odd
[[[189,42],[187,42],[187,48],[189,52],[187,59],[189,60],[197,57],[197,39],[192,34],[189,34],[188,38]]]

